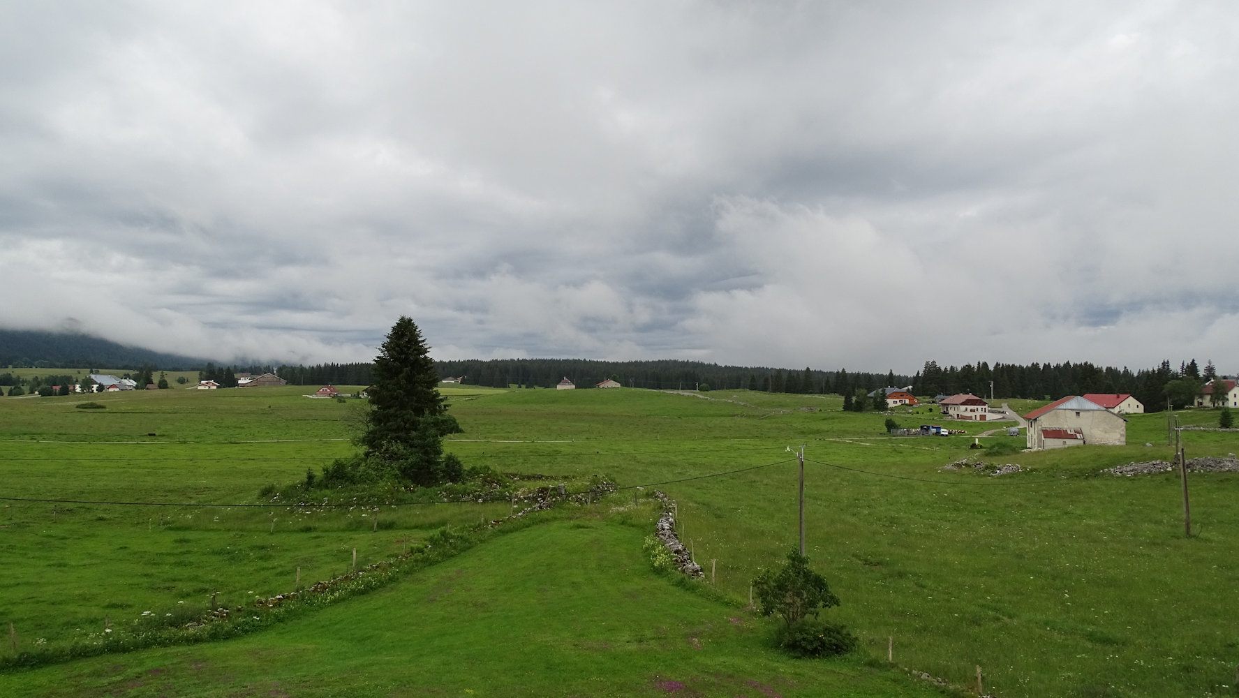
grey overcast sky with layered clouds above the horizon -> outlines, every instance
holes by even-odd
[[[2,2],[0,326],[1239,372],[1239,5]]]

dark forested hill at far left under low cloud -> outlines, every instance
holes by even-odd
[[[0,329],[0,366],[138,368],[157,366],[166,371],[192,369],[203,358],[161,353],[92,337],[59,332]]]

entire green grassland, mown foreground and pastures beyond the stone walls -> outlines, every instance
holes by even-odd
[[[1130,415],[1126,446],[1021,453],[1005,430],[970,449],[985,423],[892,438],[836,395],[445,388],[467,467],[618,487],[507,519],[520,503],[287,506],[275,493],[353,453],[362,407],[305,392],[0,398],[0,694],[966,696],[978,671],[996,697],[1237,691],[1239,472],[1189,475],[1192,537],[1176,472],[1101,472],[1170,461],[1165,414]],[[1239,451],[1183,438],[1188,457]],[[835,660],[786,657],[746,607],[798,541],[800,446],[807,553],[843,601],[824,615],[862,645]],[[965,457],[989,465],[945,467]],[[704,580],[650,568],[655,490]],[[450,532],[455,554],[368,593],[255,605]],[[227,638],[98,653],[238,606]]]

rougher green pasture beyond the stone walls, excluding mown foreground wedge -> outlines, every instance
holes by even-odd
[[[1168,457],[1161,415],[1131,419],[1129,443],[1141,445],[1002,456],[1000,462],[1032,472],[992,480],[938,471],[966,455],[971,439],[885,439],[882,417],[821,412],[835,407],[830,398],[460,391],[450,397],[452,410],[466,429],[460,438],[471,440],[450,449],[470,465],[550,475],[601,471],[629,485],[782,461],[790,456],[788,445],[807,444],[814,461],[917,479],[815,462],[807,474],[810,557],[844,599],[833,612],[857,629],[875,655],[885,653],[893,635],[902,666],[968,684],[981,665],[997,696],[1201,696],[1229,683],[1239,661],[1239,625],[1219,607],[1219,598],[1239,583],[1239,502],[1232,495],[1239,479],[1193,476],[1193,517],[1202,533],[1183,539],[1175,477],[1094,475],[1108,465]],[[307,400],[302,392],[108,395],[109,409],[94,413],[72,409],[77,398],[0,399],[0,438],[131,440],[152,430],[172,441],[0,441],[10,475],[5,491],[250,501],[260,485],[295,480],[307,465],[349,449],[346,441],[221,443],[349,434],[356,403]],[[1189,412],[1183,422],[1211,417]],[[981,430],[970,426],[973,434]],[[1234,434],[1188,433],[1187,444],[1189,455],[1239,450]],[[66,460],[103,456],[123,460]],[[229,460],[171,460],[195,456]],[[794,541],[790,462],[662,488],[680,502],[698,559],[707,569],[709,560],[719,560],[717,584],[733,598],[746,599],[747,580]],[[287,528],[281,522],[273,534],[269,522],[279,511],[171,510],[160,519],[149,510],[77,506],[53,516],[52,508],[12,505],[0,521],[9,526],[0,528],[4,559],[28,560],[0,580],[0,620],[16,617],[27,641],[42,627],[72,632],[82,622],[98,624],[104,612],[128,617],[175,600],[201,603],[203,584],[225,584],[240,595],[286,590],[297,564],[330,573],[352,547],[359,557],[380,557],[398,536],[477,516],[463,507],[401,510],[392,515],[393,531],[373,533],[370,519],[346,512]],[[170,521],[172,512],[182,519]],[[302,531],[306,526],[312,528]],[[83,549],[90,564],[83,564]],[[176,564],[151,562],[173,553]],[[313,579],[306,569],[304,578]],[[190,579],[190,570],[214,578]],[[243,642],[252,641],[258,638]]]

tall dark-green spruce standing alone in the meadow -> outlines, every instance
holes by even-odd
[[[453,456],[444,457],[444,434],[458,428],[439,394],[429,351],[418,325],[401,315],[374,357],[370,412],[361,436],[368,460],[420,486],[456,480],[461,470]]]

